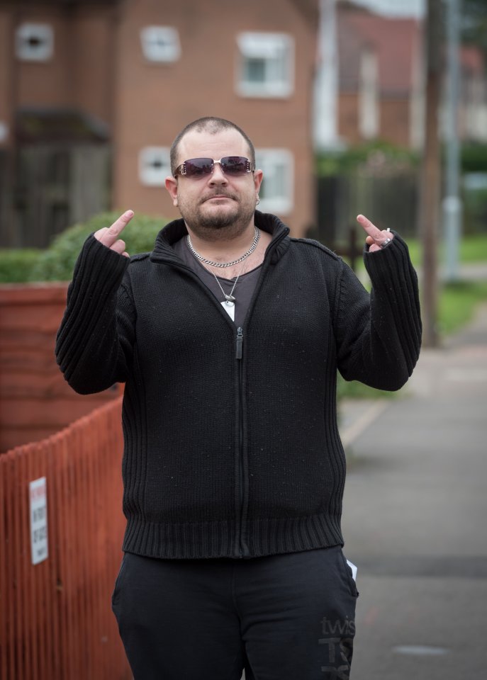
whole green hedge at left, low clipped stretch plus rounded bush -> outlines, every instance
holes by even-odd
[[[102,212],[86,222],[69,227],[43,251],[11,250],[0,253],[0,281],[69,281],[74,263],[89,234],[102,227],[109,227],[120,212]],[[167,220],[149,215],[134,215],[123,232],[127,251],[145,253],[154,247],[155,237]]]

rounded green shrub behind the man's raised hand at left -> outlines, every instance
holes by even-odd
[[[69,227],[52,241],[52,244],[38,257],[33,270],[30,272],[30,281],[68,281],[72,278],[74,264],[79,251],[89,234],[98,231],[102,227],[109,227],[119,217],[120,212],[101,212],[94,215],[86,222],[74,227]],[[127,245],[127,251],[145,253],[154,248],[155,237],[167,220],[161,217],[138,215],[135,213],[132,220],[123,232],[123,240]]]

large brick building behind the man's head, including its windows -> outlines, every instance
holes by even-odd
[[[175,217],[164,177],[201,115],[244,128],[260,208],[314,219],[316,0],[0,0],[0,246],[103,208]]]

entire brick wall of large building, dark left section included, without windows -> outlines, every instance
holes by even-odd
[[[315,220],[311,106],[317,0],[125,0],[108,7],[19,2],[15,9],[9,7],[0,9],[0,38],[5,38],[0,40],[0,120],[11,124],[22,107],[75,108],[108,125],[114,209],[179,217],[163,183],[154,187],[140,182],[140,150],[169,147],[186,123],[218,115],[244,128],[257,148],[284,148],[293,154],[293,208],[280,216],[296,236]],[[52,26],[55,50],[47,62],[16,58],[15,31],[24,22]],[[140,30],[147,26],[178,31],[179,60],[155,63],[145,58]],[[237,35],[242,31],[292,36],[290,96],[237,94]],[[7,143],[13,144],[12,136]]]

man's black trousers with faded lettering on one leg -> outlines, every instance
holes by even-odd
[[[135,680],[349,679],[357,589],[339,546],[247,560],[125,553],[113,612]]]

